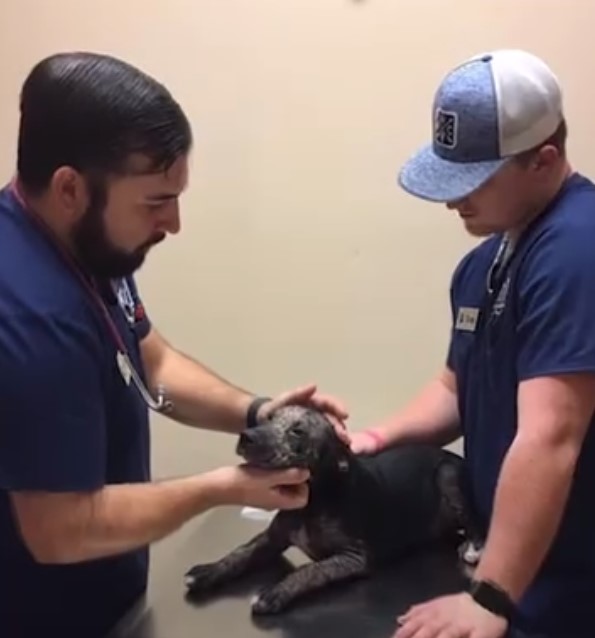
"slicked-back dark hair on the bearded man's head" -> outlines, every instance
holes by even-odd
[[[126,174],[140,154],[146,172],[166,170],[192,146],[190,124],[162,84],[98,53],[37,63],[23,84],[20,114],[17,170],[30,192],[44,190],[60,166]]]

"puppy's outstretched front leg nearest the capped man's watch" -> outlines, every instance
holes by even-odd
[[[304,565],[272,587],[264,590],[252,604],[255,614],[276,614],[304,594],[322,589],[331,583],[365,576],[366,555],[358,550],[335,554],[319,562]]]

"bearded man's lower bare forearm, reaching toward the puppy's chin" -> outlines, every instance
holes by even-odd
[[[49,513],[44,522],[32,528],[21,519],[21,526],[40,562],[74,563],[122,554],[161,540],[223,503],[214,476],[206,473],[156,483],[108,485],[92,494],[44,495],[42,498],[54,499],[45,502]],[[23,517],[27,516],[27,498],[39,497],[25,496],[20,501],[17,511]],[[35,503],[29,503],[32,510]]]

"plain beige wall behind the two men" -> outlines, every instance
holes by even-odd
[[[594,18],[591,0],[2,0],[0,173],[41,56],[93,49],[159,77],[196,151],[183,232],[140,275],[153,320],[251,390],[316,380],[359,428],[441,365],[450,272],[472,243],[395,184],[428,139],[441,75],[495,47],[544,56],[574,161],[595,175]],[[229,437],[158,420],[154,433],[159,476],[233,460]]]

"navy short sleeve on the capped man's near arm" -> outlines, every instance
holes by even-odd
[[[519,379],[595,372],[595,241],[577,224],[549,229],[519,271]]]

